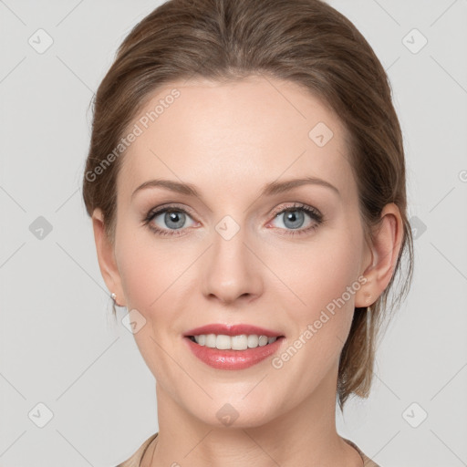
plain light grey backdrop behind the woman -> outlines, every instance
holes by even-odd
[[[113,325],[80,183],[90,99],[159,4],[0,1],[0,466],[115,466],[158,430],[153,377]],[[382,467],[467,465],[467,1],[331,5],[388,69],[417,236],[371,397],[348,403],[338,431]],[[28,43],[39,28],[53,39],[42,54]],[[53,414],[43,428],[39,403]]]

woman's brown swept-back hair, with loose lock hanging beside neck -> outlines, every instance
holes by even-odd
[[[299,84],[337,113],[349,134],[349,161],[368,241],[387,203],[397,204],[402,216],[394,274],[373,305],[355,309],[340,356],[342,409],[351,394],[368,397],[379,331],[407,296],[413,274],[403,140],[389,79],[345,16],[320,0],[170,0],[157,7],[125,38],[95,96],[84,202],[89,215],[102,210],[113,243],[124,154],[112,163],[106,158],[154,91],[184,78],[224,81],[252,75]],[[389,301],[396,277],[397,291]]]

